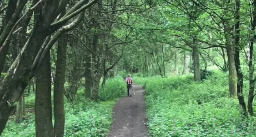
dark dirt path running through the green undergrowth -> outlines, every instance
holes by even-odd
[[[109,137],[147,137],[143,88],[134,85],[134,92],[117,101]]]

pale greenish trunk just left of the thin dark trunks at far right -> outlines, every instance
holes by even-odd
[[[227,46],[227,55],[228,55],[228,86],[229,86],[229,95],[230,97],[237,96],[237,74],[236,74],[236,66],[234,60],[234,48]]]

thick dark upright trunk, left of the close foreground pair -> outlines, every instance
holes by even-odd
[[[35,135],[54,137],[52,127],[50,51],[36,74],[35,90]]]

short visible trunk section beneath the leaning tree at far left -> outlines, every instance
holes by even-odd
[[[19,99],[19,102],[16,107],[16,123],[20,124],[22,122],[22,115],[24,114],[24,108],[25,108],[25,94],[23,93],[22,96]]]

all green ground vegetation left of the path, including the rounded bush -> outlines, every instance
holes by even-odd
[[[100,88],[100,102],[82,97],[73,105],[65,102],[65,137],[106,137],[112,124],[112,109],[119,97],[124,96],[126,85],[121,76],[109,79],[106,87]],[[80,88],[78,94],[82,94]],[[34,94],[25,97],[27,110],[33,109]],[[65,100],[66,101],[66,100]],[[15,117],[9,119],[1,137],[35,137],[35,117],[33,111],[27,111],[21,124],[15,123]]]

